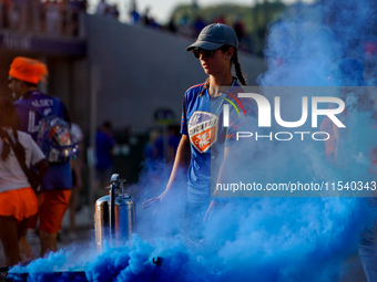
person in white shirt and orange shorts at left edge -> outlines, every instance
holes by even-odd
[[[31,136],[17,130],[17,127],[18,116],[12,101],[0,96],[0,239],[8,267],[21,261],[19,240],[27,232],[29,218],[38,211],[35,194],[9,144],[9,138],[18,143],[26,165],[32,165],[41,179],[49,167]]]

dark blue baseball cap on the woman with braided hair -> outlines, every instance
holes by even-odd
[[[237,49],[237,35],[234,30],[226,24],[212,23],[201,31],[195,43],[187,46],[186,51],[192,51],[195,48],[216,50],[223,45],[230,45]]]

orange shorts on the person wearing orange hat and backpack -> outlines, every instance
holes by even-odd
[[[59,232],[70,197],[71,190],[50,190],[38,195],[39,230],[54,234]],[[29,221],[29,228],[35,228],[38,216]]]

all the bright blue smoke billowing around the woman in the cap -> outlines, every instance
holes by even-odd
[[[373,85],[376,60],[365,54],[364,43],[377,42],[375,14],[376,4],[367,0],[291,7],[269,30],[268,71],[258,83]],[[304,181],[373,180],[369,153],[377,136],[371,129],[371,109],[364,107],[371,103],[365,97],[345,97],[348,134],[339,145],[336,166],[325,160],[324,146],[317,143],[252,143],[247,145],[254,154],[252,167],[238,173],[251,181],[254,177],[271,182],[295,177]],[[131,188],[142,190],[136,199],[139,230],[124,246],[105,247],[98,253],[91,240],[84,247],[71,246],[27,267],[14,267],[12,272],[29,273],[28,281],[43,281],[51,275],[43,272],[53,271],[84,271],[86,280],[101,282],[338,281],[347,273],[348,258],[357,253],[360,234],[376,213],[368,198],[233,198],[215,209],[202,241],[193,244],[183,220],[184,175],[176,195],[156,209],[140,207],[144,198],[165,188],[169,173],[170,167],[157,165]]]

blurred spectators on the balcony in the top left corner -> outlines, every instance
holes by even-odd
[[[0,28],[54,35],[77,35],[86,0],[1,0]]]

